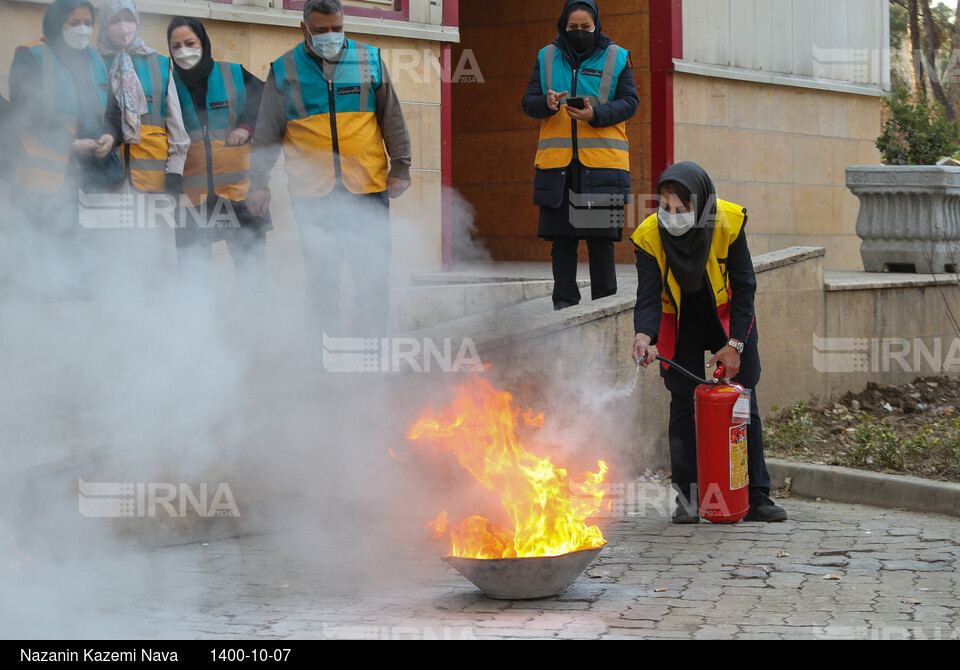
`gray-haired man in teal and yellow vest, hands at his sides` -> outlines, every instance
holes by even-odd
[[[273,63],[264,87],[247,204],[266,212],[282,147],[311,334],[339,330],[346,251],[354,334],[381,337],[390,311],[390,199],[410,186],[410,136],[380,50],[344,36],[339,0],[307,0],[300,27],[303,41]]]

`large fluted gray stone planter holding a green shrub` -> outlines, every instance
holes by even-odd
[[[867,272],[956,272],[960,268],[960,167],[847,168],[860,199],[857,236]]]

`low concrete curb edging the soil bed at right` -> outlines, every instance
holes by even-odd
[[[960,517],[960,484],[779,459],[768,459],[767,469],[776,488],[791,477],[799,496]]]

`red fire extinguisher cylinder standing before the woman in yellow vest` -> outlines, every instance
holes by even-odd
[[[742,386],[724,379],[725,374],[723,363],[717,363],[713,376],[719,383],[703,384],[694,393],[697,505],[700,517],[712,523],[736,523],[750,508],[746,418],[749,401],[745,413],[734,411],[737,401],[746,396]]]

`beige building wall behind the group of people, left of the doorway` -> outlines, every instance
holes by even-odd
[[[95,3],[98,4],[98,3]],[[143,5],[144,3],[140,3]],[[349,3],[348,3],[349,4]],[[0,0],[0,93],[8,95],[7,77],[18,45],[42,36],[41,24],[47,4]],[[303,37],[299,12],[289,12],[293,25],[271,25],[249,20],[201,19],[210,36],[217,60],[241,63],[266,80],[270,63],[292,49]],[[163,54],[170,14],[152,14],[141,8],[140,36]],[[347,17],[348,28],[350,17]],[[99,25],[94,27],[94,40]],[[439,74],[440,43],[380,34],[350,32],[348,37],[381,48],[403,105],[413,147],[412,185],[391,205],[394,286],[405,285],[413,272],[437,271],[441,267],[441,125]],[[267,234],[267,262],[274,285],[299,286],[303,279],[300,239],[286,197],[282,157],[271,180],[274,230]],[[0,196],[2,197],[2,196]],[[214,245],[214,272],[230,280],[232,263],[226,245]]]

